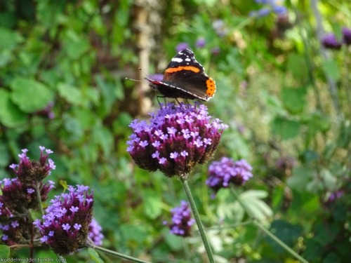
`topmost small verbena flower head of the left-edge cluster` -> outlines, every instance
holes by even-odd
[[[39,161],[30,161],[27,156],[27,149],[22,149],[22,154],[18,154],[20,157],[19,164],[12,164],[10,168],[13,169],[15,175],[24,184],[32,184],[34,181],[41,181],[45,177],[51,174],[51,170],[55,170],[56,166],[53,160],[48,158],[49,154],[52,154],[51,149],[46,149],[43,146],[39,146],[40,159]]]

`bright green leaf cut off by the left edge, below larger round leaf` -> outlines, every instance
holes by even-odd
[[[7,127],[21,126],[27,119],[26,114],[13,104],[10,97],[7,90],[0,90],[0,123]]]

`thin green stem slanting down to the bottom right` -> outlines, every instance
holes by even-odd
[[[256,218],[252,215],[251,211],[248,210],[246,208],[246,205],[244,205],[244,203],[241,201],[240,197],[237,195],[237,193],[234,191],[234,189],[230,189],[232,191],[233,196],[235,197],[235,199],[237,199],[239,205],[241,206],[241,208],[244,209],[244,211],[249,215],[249,217],[253,220],[253,224],[256,225],[256,227],[258,227],[259,229],[261,229],[262,231],[265,232],[265,234],[267,234],[268,236],[270,236],[270,238],[273,239],[273,241],[275,241],[278,245],[280,245],[282,248],[284,248],[287,252],[289,252],[293,257],[296,257],[296,259],[300,260],[300,262],[303,263],[308,263],[306,259],[304,259],[303,257],[301,257],[300,255],[298,255],[298,253],[296,253],[295,251],[293,251],[289,245],[286,245],[286,243],[284,243],[283,241],[281,241],[279,238],[277,238],[277,236],[275,236],[269,229],[267,229],[267,227],[265,227],[263,224],[261,224],[260,222],[258,222],[258,220],[256,220]]]

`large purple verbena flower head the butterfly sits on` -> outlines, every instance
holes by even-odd
[[[140,168],[161,170],[168,177],[186,177],[211,159],[227,127],[211,120],[202,104],[167,104],[150,115],[149,121],[131,123],[127,151]]]

